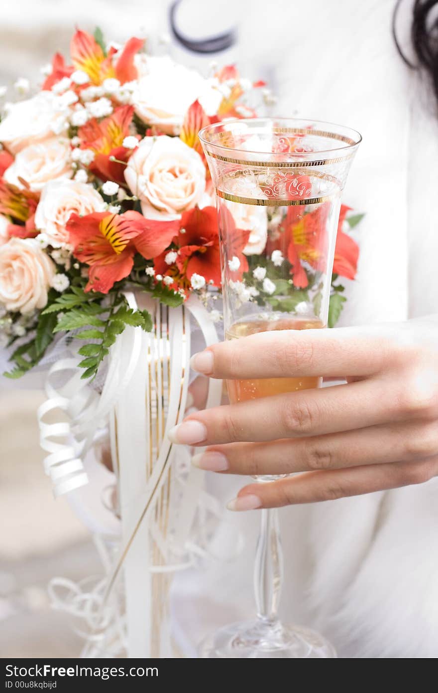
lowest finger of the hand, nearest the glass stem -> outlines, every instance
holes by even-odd
[[[398,486],[422,484],[438,475],[438,457],[421,462],[392,462],[334,471],[308,472],[274,482],[244,486],[228,503],[230,510],[277,508],[283,505],[336,500]]]

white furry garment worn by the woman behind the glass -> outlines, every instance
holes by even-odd
[[[257,11],[248,9],[241,27],[242,62],[262,64],[276,80],[275,114],[343,123],[363,134],[344,200],[366,218],[341,324],[437,313],[438,116],[432,90],[428,101],[396,52],[394,1],[277,0],[251,8]],[[410,3],[403,3],[402,40],[409,22]],[[210,475],[209,484],[226,502],[246,481]],[[282,618],[324,633],[340,657],[437,656],[437,494],[435,478],[282,509]],[[255,613],[259,516],[228,515],[222,548],[240,530],[240,556],[176,579],[176,635],[188,654],[204,633]]]

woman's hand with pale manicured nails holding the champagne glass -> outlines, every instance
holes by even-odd
[[[249,510],[419,484],[438,475],[438,319],[272,331],[192,358],[210,378],[333,377],[348,383],[190,414],[176,443],[208,446],[194,464],[230,474],[306,474],[244,486]]]

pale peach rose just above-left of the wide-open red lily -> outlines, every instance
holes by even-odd
[[[93,186],[77,180],[53,180],[43,188],[35,227],[44,232],[53,247],[63,247],[69,243],[66,223],[73,212],[84,216],[104,209],[104,200]]]

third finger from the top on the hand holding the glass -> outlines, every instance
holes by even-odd
[[[411,462],[435,455],[437,424],[403,423],[310,438],[209,447],[194,455],[192,464],[206,471],[257,476]]]

